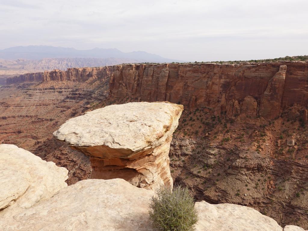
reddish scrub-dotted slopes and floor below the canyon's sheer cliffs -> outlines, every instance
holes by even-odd
[[[15,144],[69,170],[67,183],[88,179],[88,157],[56,140],[67,119],[110,104],[109,79],[24,82],[0,89],[0,143]],[[197,201],[253,207],[280,225],[308,229],[308,126],[288,107],[274,120],[184,107],[169,153],[175,184]],[[288,140],[295,140],[288,146]],[[279,145],[279,146],[278,146]]]

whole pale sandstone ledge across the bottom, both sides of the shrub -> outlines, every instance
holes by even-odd
[[[12,144],[0,144],[0,153],[0,183],[6,187],[0,197],[2,230],[158,230],[149,219],[151,189],[124,179],[81,180],[67,187],[67,169]],[[12,179],[18,168],[22,171]],[[196,231],[305,231],[294,225],[282,228],[246,206],[200,201],[194,207]]]

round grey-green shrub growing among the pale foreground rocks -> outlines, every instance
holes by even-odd
[[[160,187],[152,197],[149,215],[154,227],[163,231],[192,231],[197,222],[194,199],[187,188]]]

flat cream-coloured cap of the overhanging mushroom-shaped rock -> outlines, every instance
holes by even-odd
[[[128,157],[162,144],[176,129],[182,111],[182,105],[168,102],[110,105],[67,120],[53,135],[75,147],[126,150],[119,157]]]

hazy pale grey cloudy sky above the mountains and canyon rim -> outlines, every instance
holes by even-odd
[[[0,49],[147,51],[187,61],[308,55],[307,0],[0,0]]]

